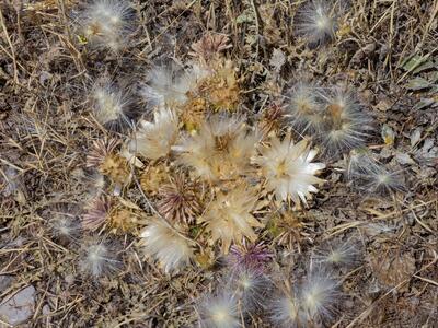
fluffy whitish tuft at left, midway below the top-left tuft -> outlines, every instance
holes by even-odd
[[[91,92],[92,110],[95,119],[108,129],[130,125],[130,101],[116,85],[102,80]]]

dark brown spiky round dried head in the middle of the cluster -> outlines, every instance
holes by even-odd
[[[170,221],[193,223],[203,211],[198,189],[184,175],[176,175],[159,189],[157,210]]]

